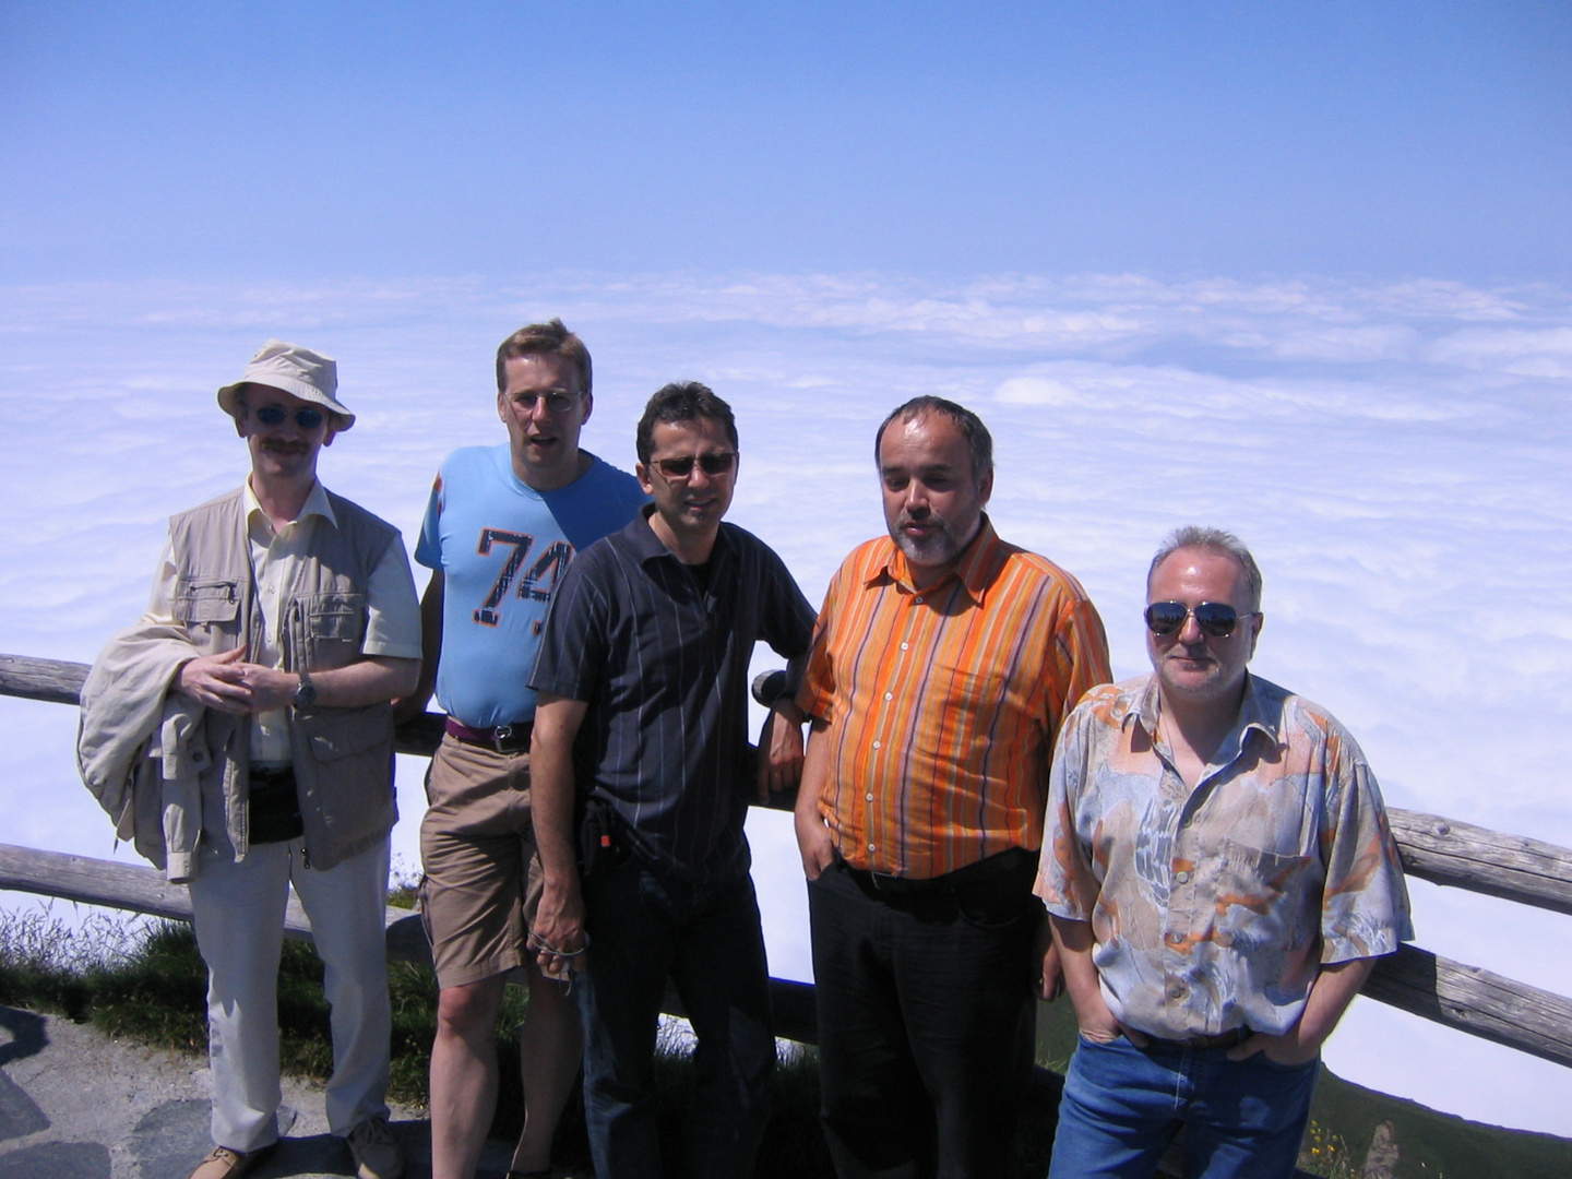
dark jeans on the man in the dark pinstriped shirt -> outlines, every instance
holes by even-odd
[[[585,880],[585,1121],[596,1173],[660,1179],[656,1025],[667,978],[698,1038],[681,1174],[753,1173],[769,1121],[775,1031],[753,880],[696,887],[638,860]]]

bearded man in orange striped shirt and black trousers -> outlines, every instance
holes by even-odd
[[[915,398],[874,454],[890,536],[832,580],[799,695],[821,1113],[841,1179],[994,1179],[1058,982],[1031,894],[1049,759],[1108,646],[1074,577],[994,533],[975,413]]]

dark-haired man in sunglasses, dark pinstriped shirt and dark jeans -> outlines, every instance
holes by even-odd
[[[766,641],[794,681],[813,608],[762,541],[722,522],[737,462],[731,407],[707,387],[649,399],[638,479],[654,505],[569,567],[530,679],[545,869],[534,945],[542,970],[578,979],[590,1146],[596,1173],[615,1179],[663,1173],[654,1050],[667,978],[698,1036],[670,1173],[753,1174],[769,1116],[775,1038],[744,819],[755,778],[759,795],[795,784],[802,715],[789,698],[777,706],[786,723],[755,772],[748,660]],[[580,855],[575,799],[591,824]]]

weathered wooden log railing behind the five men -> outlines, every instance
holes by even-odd
[[[86,671],[85,663],[0,654],[0,695],[75,704]],[[398,748],[431,756],[440,731],[439,717],[418,717],[399,728]],[[789,808],[791,802],[772,805]],[[1390,817],[1410,876],[1572,913],[1572,850],[1418,811],[1391,810]],[[0,888],[190,918],[185,890],[167,885],[154,869],[58,852],[0,846]],[[310,937],[302,912],[292,909],[289,920],[291,935]],[[388,910],[388,953],[429,960],[418,921],[402,910]],[[1572,1000],[1563,995],[1416,946],[1383,957],[1363,994],[1572,1067]],[[781,1034],[814,1042],[813,989],[775,979],[775,1001]]]

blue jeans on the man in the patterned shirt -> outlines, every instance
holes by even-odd
[[[1185,1179],[1292,1176],[1320,1060],[1278,1064],[1258,1052],[1085,1038],[1075,1047],[1049,1179],[1151,1179],[1185,1127]]]

